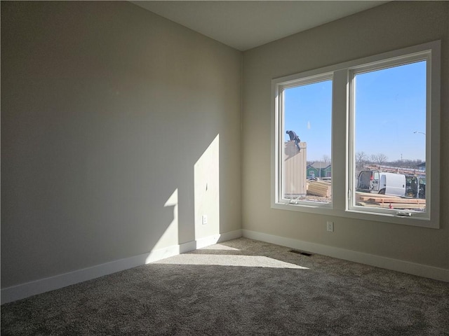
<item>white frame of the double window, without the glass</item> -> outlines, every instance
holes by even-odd
[[[441,41],[384,52],[380,55],[355,59],[342,64],[326,66],[272,80],[272,208],[302,211],[326,216],[358,218],[403,225],[439,228],[440,223],[440,86]],[[403,216],[401,211],[387,211],[352,204],[354,195],[354,90],[351,78],[361,71],[373,71],[385,67],[408,64],[417,60],[427,61],[427,114],[426,114],[426,202],[425,213]],[[332,111],[332,202],[314,204],[282,199],[283,186],[283,106],[282,92],[285,88],[321,80],[333,80]]]

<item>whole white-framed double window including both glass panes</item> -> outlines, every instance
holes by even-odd
[[[272,207],[438,228],[440,42],[272,81]]]

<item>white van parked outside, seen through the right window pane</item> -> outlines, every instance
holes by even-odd
[[[357,191],[404,197],[406,176],[377,170],[362,170],[358,174]]]

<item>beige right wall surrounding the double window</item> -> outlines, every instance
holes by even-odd
[[[448,4],[394,1],[243,53],[243,229],[449,269],[447,188],[440,230],[271,209],[268,150],[273,78],[441,39],[441,176],[449,176]]]

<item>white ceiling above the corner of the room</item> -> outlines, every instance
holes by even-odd
[[[388,1],[130,2],[243,51]]]

